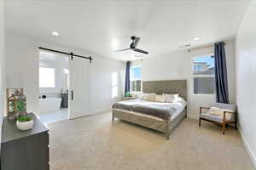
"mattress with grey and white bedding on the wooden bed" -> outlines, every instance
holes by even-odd
[[[143,99],[131,99],[113,104],[113,109],[134,111],[144,115],[156,116],[166,121],[173,121],[185,108],[186,102],[180,98],[175,103],[152,102]]]

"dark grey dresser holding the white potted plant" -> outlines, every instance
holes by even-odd
[[[49,129],[37,116],[31,130],[20,131],[15,122],[3,120],[1,170],[49,170]]]

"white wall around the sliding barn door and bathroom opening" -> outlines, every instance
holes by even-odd
[[[47,42],[40,42],[29,37],[14,33],[6,34],[6,73],[20,72],[24,77],[24,91],[27,97],[27,110],[38,113],[38,47],[55,48],[75,54],[91,55],[90,53],[73,48],[64,48]],[[93,55],[93,54],[92,54]],[[89,78],[89,110],[91,113],[104,111],[111,108],[113,100],[123,96],[125,63],[107,59],[96,55],[90,65]],[[112,99],[111,77],[113,72],[119,73],[119,95]]]

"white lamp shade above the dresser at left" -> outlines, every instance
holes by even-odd
[[[11,73],[6,77],[6,88],[24,88],[23,76],[21,73]]]

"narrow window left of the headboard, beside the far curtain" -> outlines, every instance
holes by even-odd
[[[133,66],[130,69],[130,88],[131,92],[140,92],[142,90],[141,66]]]

